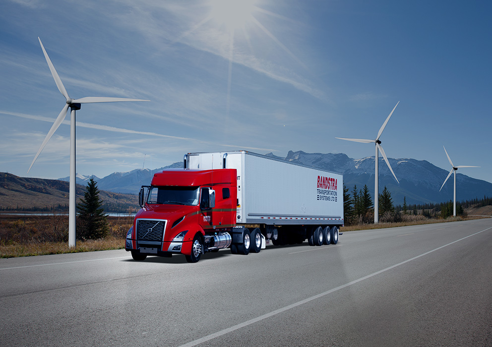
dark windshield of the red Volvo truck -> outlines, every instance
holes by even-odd
[[[147,204],[198,205],[198,187],[152,186]]]

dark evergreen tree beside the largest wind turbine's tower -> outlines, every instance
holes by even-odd
[[[84,198],[77,204],[79,239],[103,238],[108,234],[108,220],[101,208],[102,200],[99,197],[97,182],[93,177],[87,183]]]

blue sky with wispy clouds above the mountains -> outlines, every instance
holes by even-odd
[[[71,98],[151,100],[82,105],[78,173],[219,150],[373,156],[335,136],[375,138],[400,101],[388,157],[450,170],[444,145],[492,182],[490,2],[228,3],[3,0],[0,171],[68,176],[69,116],[27,174],[64,106],[39,36]]]

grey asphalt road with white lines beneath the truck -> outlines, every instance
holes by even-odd
[[[134,262],[0,259],[1,346],[492,346],[492,219]]]

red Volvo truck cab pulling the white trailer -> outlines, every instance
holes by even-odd
[[[236,170],[169,169],[142,186],[125,249],[135,260],[182,253],[190,262],[226,248],[236,224]],[[226,235],[227,234],[227,235]]]

